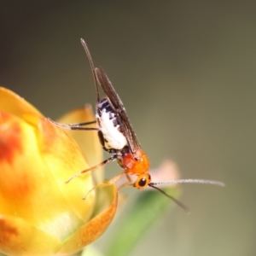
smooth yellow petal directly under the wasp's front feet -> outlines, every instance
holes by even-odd
[[[90,172],[66,183],[77,172],[89,168],[79,145],[49,120],[32,114],[26,114],[25,117],[36,128],[38,148],[45,165],[49,168],[50,177],[54,180],[55,189],[61,192],[79,218],[87,220],[93,211],[95,200],[95,193],[92,191],[87,200],[83,201],[84,195],[94,186]]]

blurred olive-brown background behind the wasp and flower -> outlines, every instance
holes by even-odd
[[[192,214],[166,212],[132,256],[256,254],[255,11],[255,1],[1,2],[2,86],[53,119],[94,105],[84,38],[152,167],[170,158],[184,178],[226,183],[183,185]]]

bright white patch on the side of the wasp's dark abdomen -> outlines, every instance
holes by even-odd
[[[122,132],[119,131],[119,125],[113,125],[113,119],[110,119],[109,112],[104,108],[101,116],[96,114],[96,119],[99,120],[100,130],[102,131],[105,148],[122,149],[127,145],[127,140]]]

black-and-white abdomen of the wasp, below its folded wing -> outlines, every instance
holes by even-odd
[[[119,113],[114,111],[108,98],[103,98],[100,102],[97,102],[96,120],[99,126],[99,139],[106,151],[116,153],[127,146]]]

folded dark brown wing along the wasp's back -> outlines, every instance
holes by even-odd
[[[113,104],[113,107],[116,109],[116,112],[119,113],[119,117],[122,121],[122,125],[125,128],[125,137],[131,148],[131,152],[135,152],[137,148],[140,148],[140,143],[138,142],[137,136],[131,126],[131,122],[128,118],[128,115],[125,111],[125,106],[119,95],[113,89],[113,85],[108,79],[107,74],[103,71],[102,67],[95,68],[96,79],[99,84],[102,86],[102,90],[105,92],[108,99]]]

